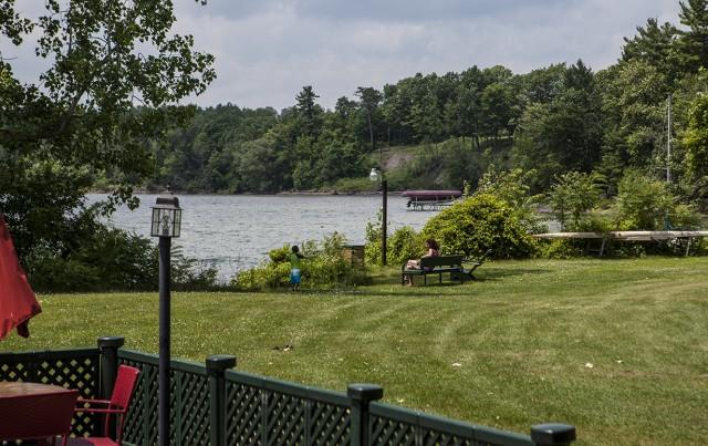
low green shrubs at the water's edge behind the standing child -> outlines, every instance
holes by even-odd
[[[306,241],[301,247],[301,289],[332,289],[371,283],[371,276],[363,267],[348,263],[343,257],[344,236],[334,232],[321,243]],[[269,260],[256,268],[238,272],[231,286],[241,291],[257,291],[288,287],[290,280],[291,247],[269,252]]]

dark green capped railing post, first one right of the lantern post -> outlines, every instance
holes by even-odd
[[[215,354],[206,360],[209,374],[209,443],[226,445],[226,381],[223,374],[236,366],[236,356]]]

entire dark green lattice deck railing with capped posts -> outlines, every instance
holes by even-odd
[[[97,349],[0,354],[0,381],[79,388],[107,398],[118,364],[140,369],[124,444],[157,445],[158,357],[123,349],[123,338],[100,338]],[[170,363],[173,445],[410,445],[561,446],[575,439],[563,424],[533,426],[531,435],[478,426],[379,403],[383,388],[351,384],[324,391],[231,370],[236,357],[205,364]],[[74,419],[73,435],[100,434],[97,419]]]

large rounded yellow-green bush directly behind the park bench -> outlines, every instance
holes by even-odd
[[[477,194],[433,217],[423,229],[444,253],[475,257],[487,249],[496,258],[522,258],[534,251],[534,241],[514,209],[491,194]]]

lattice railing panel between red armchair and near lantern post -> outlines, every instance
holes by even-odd
[[[157,366],[127,360],[121,362],[140,369],[123,438],[135,445],[157,445]]]

